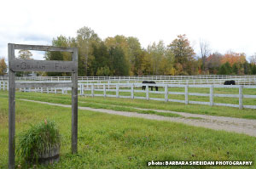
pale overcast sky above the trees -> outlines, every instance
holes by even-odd
[[[44,0],[1,1],[0,58],[7,44],[51,45],[54,37],[76,37],[83,26],[104,40],[137,37],[143,48],[170,44],[186,34],[199,55],[200,39],[213,52],[256,53],[255,0]],[[16,51],[17,54],[17,51]],[[33,59],[44,53],[32,52]]]

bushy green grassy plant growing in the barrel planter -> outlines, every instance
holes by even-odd
[[[60,146],[61,136],[54,121],[44,121],[23,132],[19,138],[17,152],[26,161],[38,161],[45,151]]]

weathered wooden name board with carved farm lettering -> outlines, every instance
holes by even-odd
[[[78,65],[74,61],[14,59],[10,62],[13,71],[75,72]]]

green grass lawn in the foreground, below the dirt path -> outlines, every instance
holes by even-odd
[[[8,166],[8,99],[5,94],[1,93],[0,97],[0,168]],[[17,98],[22,97],[45,99],[44,101],[48,98],[51,102],[62,104],[70,104],[71,99],[70,96],[60,94],[17,93]],[[79,100],[88,101],[86,98]],[[102,102],[103,99],[99,100]],[[90,101],[93,102],[93,99]],[[115,102],[117,101],[113,100],[113,103]],[[54,120],[62,136],[61,161],[54,166],[44,166],[46,168],[148,168],[147,161],[256,160],[256,138],[244,134],[86,110],[79,110],[79,153],[72,155],[71,109],[20,99],[16,99],[16,143],[20,132],[44,119]],[[22,167],[27,167],[17,156],[16,164],[19,162]],[[38,168],[42,167],[38,166]],[[193,168],[193,166],[184,168]],[[200,168],[209,168],[209,166]],[[255,168],[255,166],[247,166],[247,168]]]

